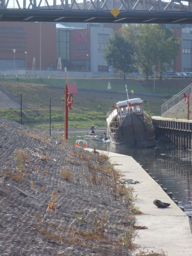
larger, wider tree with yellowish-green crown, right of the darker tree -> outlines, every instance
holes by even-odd
[[[180,38],[173,37],[173,31],[164,24],[140,24],[134,29],[128,24],[122,28],[122,34],[134,47],[137,68],[146,76],[152,70],[166,70],[172,67],[180,48]]]

